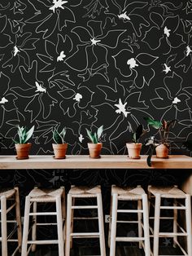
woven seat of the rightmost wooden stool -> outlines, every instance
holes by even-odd
[[[172,187],[153,187],[149,186],[148,191],[151,192],[154,196],[160,194],[164,198],[185,198],[185,192],[182,192],[181,189],[176,186]]]

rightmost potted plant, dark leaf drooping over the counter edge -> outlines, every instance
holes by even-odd
[[[152,139],[146,143],[146,145],[150,145],[150,153],[147,157],[148,166],[151,166],[151,157],[153,155],[154,149],[156,152],[156,157],[158,158],[168,158],[168,152],[170,148],[170,141],[168,140],[169,130],[171,126],[174,126],[176,120],[171,121],[159,121],[154,120],[151,117],[144,117],[147,124],[156,130],[159,133],[159,140],[155,139],[152,136]]]

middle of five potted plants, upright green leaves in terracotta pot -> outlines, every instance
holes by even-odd
[[[91,131],[87,129],[86,129],[86,132],[91,141],[91,143],[88,143],[89,157],[100,158],[100,153],[101,153],[103,143],[100,143],[99,139],[101,138],[101,135],[103,133],[103,126],[100,126],[97,132],[94,132],[94,134],[92,134]]]

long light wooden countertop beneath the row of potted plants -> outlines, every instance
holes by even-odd
[[[192,169],[192,157],[172,155],[168,159],[152,157],[152,167],[147,166],[146,157],[130,159],[124,155],[103,155],[91,159],[87,155],[72,156],[56,160],[51,155],[29,156],[17,160],[15,156],[0,156],[0,169]]]

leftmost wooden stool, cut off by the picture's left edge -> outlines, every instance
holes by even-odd
[[[11,255],[15,255],[16,252],[21,248],[22,234],[21,234],[21,221],[20,221],[20,196],[19,188],[0,190],[1,200],[1,224],[2,224],[2,256],[8,255],[7,242],[17,242],[18,246]],[[11,205],[8,205],[8,201],[12,201]],[[7,209],[7,206],[9,207]],[[7,214],[15,207],[15,219],[7,220]],[[7,235],[7,223],[16,223],[16,227]],[[17,239],[11,239],[11,236],[17,230]]]

